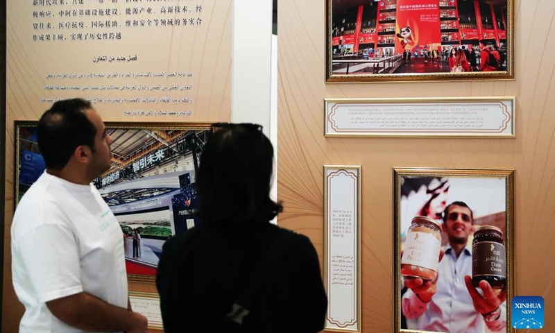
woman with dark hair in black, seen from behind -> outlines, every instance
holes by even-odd
[[[327,298],[316,250],[269,223],[273,147],[262,126],[219,123],[196,173],[202,225],[165,244],[157,271],[164,331],[318,332]]]

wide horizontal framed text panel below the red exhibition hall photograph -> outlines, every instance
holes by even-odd
[[[515,97],[325,99],[326,137],[515,137]]]

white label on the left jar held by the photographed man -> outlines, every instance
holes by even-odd
[[[409,232],[404,240],[401,264],[409,264],[438,270],[438,254],[441,241],[429,232]]]

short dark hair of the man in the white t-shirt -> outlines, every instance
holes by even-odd
[[[78,146],[89,146],[94,151],[96,128],[85,114],[91,108],[84,99],[66,99],[42,114],[37,141],[46,169],[65,167]]]

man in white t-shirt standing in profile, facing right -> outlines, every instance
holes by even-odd
[[[101,117],[83,99],[58,101],[37,135],[46,171],[11,228],[12,280],[25,306],[19,332],[146,332],[128,300],[121,229],[90,184],[111,164]]]

